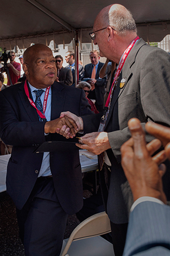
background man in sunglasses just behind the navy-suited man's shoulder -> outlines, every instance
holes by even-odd
[[[62,82],[62,84],[72,85],[73,76],[70,69],[62,67],[63,57],[61,55],[56,55],[56,68],[57,68],[57,78],[56,82]]]

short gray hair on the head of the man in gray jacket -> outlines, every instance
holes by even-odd
[[[126,31],[137,32],[135,20],[127,9],[110,10],[104,16],[104,21],[122,36],[126,35]]]

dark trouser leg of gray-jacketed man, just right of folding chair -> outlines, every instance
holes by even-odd
[[[111,222],[113,249],[115,256],[122,256],[124,252],[128,223],[115,224]]]

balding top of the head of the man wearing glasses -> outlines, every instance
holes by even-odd
[[[95,19],[94,26],[111,26],[121,36],[127,32],[137,32],[137,27],[130,11],[122,5],[109,5],[102,9]]]

